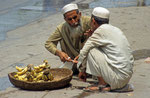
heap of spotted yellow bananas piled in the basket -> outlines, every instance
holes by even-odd
[[[50,65],[47,60],[43,61],[43,64],[34,66],[33,64],[28,64],[25,68],[16,66],[18,72],[14,75],[14,78],[18,80],[28,81],[28,82],[42,82],[42,81],[52,81],[54,79],[50,72]]]

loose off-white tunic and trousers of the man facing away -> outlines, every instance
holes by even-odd
[[[87,58],[86,72],[101,76],[111,89],[125,86],[133,73],[133,56],[123,32],[109,24],[100,26],[80,51],[77,66]]]

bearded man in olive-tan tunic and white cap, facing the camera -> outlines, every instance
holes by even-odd
[[[84,33],[90,28],[90,17],[81,16],[76,4],[67,4],[62,11],[65,22],[57,26],[55,32],[46,41],[45,47],[52,54],[59,56],[62,62],[70,62],[79,55],[83,42],[87,39]],[[61,50],[57,49],[58,42]],[[74,64],[73,72],[77,71]]]

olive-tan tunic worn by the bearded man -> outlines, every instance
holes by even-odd
[[[56,31],[51,34],[45,43],[46,49],[55,54],[57,44],[60,42],[61,50],[67,53],[72,59],[79,54],[83,46],[82,40],[86,39],[83,36],[90,28],[90,17],[82,16],[80,26],[77,28],[71,27],[67,22],[60,24]]]

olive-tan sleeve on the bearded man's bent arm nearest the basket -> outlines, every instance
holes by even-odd
[[[48,40],[45,43],[45,48],[51,52],[52,54],[56,54],[57,50],[57,44],[58,41],[62,39],[61,34],[60,34],[60,27],[57,27],[55,32],[51,34],[51,36],[48,38]]]

